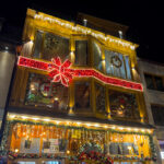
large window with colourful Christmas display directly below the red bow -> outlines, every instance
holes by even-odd
[[[60,83],[50,83],[46,75],[30,73],[25,105],[67,109],[68,87]]]

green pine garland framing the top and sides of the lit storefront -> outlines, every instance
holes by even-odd
[[[73,127],[73,126],[61,126],[61,125],[55,125],[55,124],[50,124],[50,122],[43,122],[43,121],[38,121],[38,122],[34,122],[34,121],[27,121],[27,120],[8,120],[5,124],[5,128],[4,128],[4,132],[3,132],[3,138],[2,138],[2,142],[1,142],[1,147],[0,147],[0,156],[2,155],[8,155],[9,157],[51,157],[55,159],[57,157],[56,155],[50,155],[50,154],[23,154],[23,153],[12,153],[9,152],[9,150],[7,149],[7,142],[8,142],[8,137],[9,137],[9,131],[11,130],[11,126],[15,125],[15,124],[24,124],[24,125],[43,125],[43,126],[55,126],[57,128],[65,128],[65,129],[80,129],[80,130],[85,130],[85,131],[99,131],[99,132],[112,132],[112,133],[121,133],[121,134],[142,134],[142,136],[148,136],[150,139],[150,148],[151,148],[151,152],[152,152],[152,157],[138,157],[138,156],[125,156],[125,155],[115,155],[112,159],[113,160],[140,160],[140,161],[156,161],[157,155],[156,155],[156,150],[153,143],[153,137],[150,133],[145,133],[145,132],[130,132],[130,131],[117,131],[114,129],[108,129],[108,130],[104,130],[104,129],[92,129],[92,128],[85,128],[85,127]],[[59,156],[58,156],[59,157]]]

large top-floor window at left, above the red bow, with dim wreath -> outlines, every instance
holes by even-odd
[[[37,31],[35,36],[34,57],[50,60],[60,56],[66,60],[69,55],[69,39],[52,33]]]

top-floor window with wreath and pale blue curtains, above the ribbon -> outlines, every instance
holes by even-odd
[[[105,50],[105,63],[107,74],[131,80],[130,61],[128,56]]]

